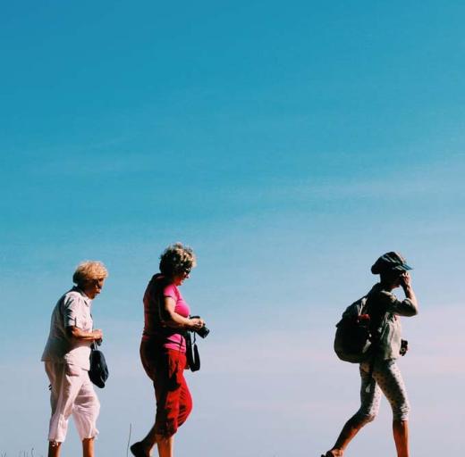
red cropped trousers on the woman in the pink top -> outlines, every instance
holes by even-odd
[[[142,341],[140,360],[155,387],[156,434],[172,436],[192,411],[192,397],[184,378],[186,355],[156,342]]]

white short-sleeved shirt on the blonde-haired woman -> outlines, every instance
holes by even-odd
[[[78,327],[86,332],[92,331],[91,303],[92,300],[79,287],[72,287],[58,300],[52,312],[50,333],[42,361],[68,363],[76,368],[89,370],[92,342],[68,337],[66,328]]]

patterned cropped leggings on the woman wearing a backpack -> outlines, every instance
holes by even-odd
[[[383,392],[393,409],[393,420],[408,420],[410,404],[401,371],[395,360],[376,361],[372,377],[369,376],[369,369],[369,362],[360,363],[361,405],[354,418],[362,422],[374,420]]]

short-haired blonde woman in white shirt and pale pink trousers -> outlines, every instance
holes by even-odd
[[[76,285],[56,303],[50,333],[42,354],[50,379],[52,417],[48,457],[58,457],[72,415],[82,441],[84,457],[94,456],[94,438],[100,403],[89,379],[90,345],[102,340],[93,329],[90,306],[101,292],[108,273],[101,262],[82,262],[72,281]]]

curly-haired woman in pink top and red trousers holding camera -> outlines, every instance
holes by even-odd
[[[190,319],[190,307],[179,287],[196,266],[193,251],[181,243],[170,245],[160,257],[160,272],[150,279],[144,294],[144,332],[140,359],[153,381],[156,420],[148,435],[131,445],[135,457],[148,457],[157,445],[160,457],[173,455],[174,435],[192,410],[184,378],[186,341],[183,332],[202,328],[201,319]]]

